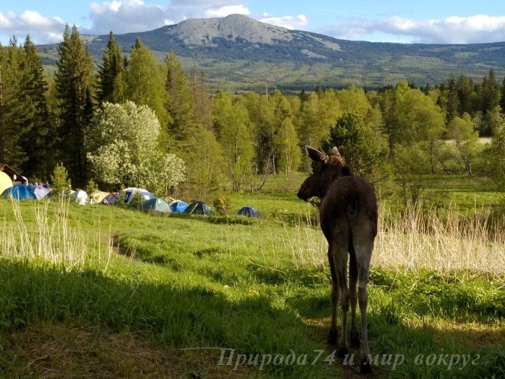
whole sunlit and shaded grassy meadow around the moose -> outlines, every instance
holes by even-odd
[[[260,219],[0,200],[0,377],[359,377],[359,349],[343,364],[326,344],[327,246],[301,179],[229,195]],[[499,197],[479,178],[425,180],[443,188],[430,206],[380,202],[371,377],[504,377]],[[221,349],[247,359],[218,364]],[[296,361],[254,361],[278,354]]]

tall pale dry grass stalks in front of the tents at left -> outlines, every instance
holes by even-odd
[[[112,230],[104,251],[99,220],[96,232],[90,234],[84,231],[79,220],[70,220],[68,208],[69,201],[64,201],[56,203],[51,212],[49,203],[41,201],[32,202],[27,211],[17,200],[12,200],[14,222],[8,222],[5,217],[0,225],[3,236],[0,257],[42,259],[66,270],[105,262],[107,269],[113,252]]]

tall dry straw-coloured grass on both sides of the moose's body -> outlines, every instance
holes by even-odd
[[[494,221],[489,212],[468,217],[455,207],[426,210],[418,207],[393,214],[379,208],[378,234],[372,266],[418,272],[448,273],[469,270],[505,277],[505,221]],[[322,267],[328,245],[311,217],[299,218],[293,238],[284,242],[293,264]]]

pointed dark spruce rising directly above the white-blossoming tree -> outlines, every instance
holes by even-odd
[[[107,49],[102,57],[103,63],[98,70],[98,101],[100,103],[119,103],[123,101],[125,87],[125,59],[121,48],[114,39],[112,31],[109,33]]]

